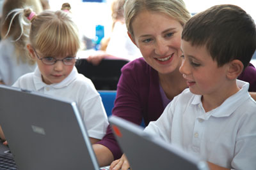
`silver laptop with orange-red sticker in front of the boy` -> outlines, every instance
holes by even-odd
[[[109,123],[132,169],[209,169],[206,162],[143,132],[143,127],[115,116]]]

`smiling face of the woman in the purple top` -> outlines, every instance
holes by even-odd
[[[161,74],[179,69],[182,25],[168,15],[141,11],[132,21],[133,41],[146,62]]]

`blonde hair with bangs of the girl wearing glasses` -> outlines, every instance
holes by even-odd
[[[22,16],[19,17],[20,24],[30,25],[29,43],[42,55],[52,57],[76,55],[80,47],[79,34],[70,13],[46,10],[29,21],[27,18],[33,13],[30,8],[12,12]],[[26,29],[22,34],[26,33]]]

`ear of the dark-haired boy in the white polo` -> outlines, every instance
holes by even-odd
[[[241,60],[232,60],[228,65],[227,77],[234,80],[239,76],[244,69],[244,64]]]

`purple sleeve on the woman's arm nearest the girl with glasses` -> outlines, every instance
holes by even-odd
[[[122,68],[112,114],[140,125],[143,116],[140,95],[138,94],[141,89],[139,89],[138,85],[138,71],[136,71],[136,67],[134,66],[134,62],[129,62],[129,64]],[[110,126],[108,126],[104,138],[98,143],[109,148],[115,160],[122,156],[122,151],[115,140]]]

